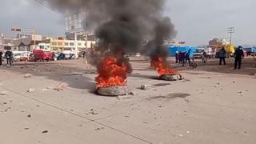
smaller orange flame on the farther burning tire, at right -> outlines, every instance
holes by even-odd
[[[166,65],[166,59],[165,58],[154,58],[151,60],[151,66],[154,68],[154,70],[158,71],[159,76],[161,77],[164,74],[178,74],[178,70],[170,69]]]

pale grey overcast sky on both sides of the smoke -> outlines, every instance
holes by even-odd
[[[235,26],[234,42],[256,45],[255,0],[166,0],[166,15],[187,45],[207,44],[211,38],[229,38],[227,27]],[[11,27],[32,28],[51,36],[64,35],[62,14],[33,0],[1,0],[0,32],[14,36]]]

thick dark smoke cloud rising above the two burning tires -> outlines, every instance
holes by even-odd
[[[152,40],[155,52],[166,54],[162,40],[174,37],[176,31],[170,18],[163,18],[165,0],[46,0],[63,13],[89,11],[90,26],[96,26],[95,34],[102,39],[102,50],[138,52],[143,40]],[[152,44],[154,46],[152,46]],[[161,50],[158,51],[157,49]],[[163,50],[163,51],[162,51]]]

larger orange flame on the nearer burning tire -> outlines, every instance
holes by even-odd
[[[97,89],[110,86],[126,86],[128,66],[119,64],[118,58],[106,57],[102,60],[96,77]]]

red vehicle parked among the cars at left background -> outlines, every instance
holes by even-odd
[[[44,61],[52,60],[52,54],[46,53],[43,50],[34,50],[33,54],[34,54],[34,62],[37,62],[37,61],[44,62]]]

